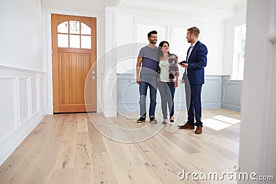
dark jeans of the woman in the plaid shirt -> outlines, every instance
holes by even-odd
[[[163,119],[168,119],[168,110],[170,112],[170,116],[173,116],[175,114],[175,85],[166,82],[160,82],[158,84],[158,88],[161,95],[161,108]]]

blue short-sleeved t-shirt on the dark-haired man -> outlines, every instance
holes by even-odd
[[[158,48],[141,48],[139,57],[143,57],[140,74],[155,74],[158,70]]]

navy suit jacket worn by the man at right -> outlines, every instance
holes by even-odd
[[[189,50],[190,48],[188,49],[187,57]],[[197,41],[188,61],[186,60],[188,62],[187,76],[190,84],[204,84],[204,67],[207,65],[207,53],[206,46]],[[182,79],[184,79],[184,74]]]

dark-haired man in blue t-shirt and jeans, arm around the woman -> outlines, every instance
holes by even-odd
[[[137,123],[146,121],[146,94],[150,88],[150,122],[157,123],[155,119],[156,93],[157,93],[157,70],[158,70],[158,48],[157,31],[153,30],[148,33],[149,44],[141,48],[137,59],[136,82],[139,84],[140,92],[140,118]],[[141,69],[141,71],[140,71]]]

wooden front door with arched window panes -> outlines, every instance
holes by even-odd
[[[97,110],[96,26],[96,18],[52,14],[54,113]]]

